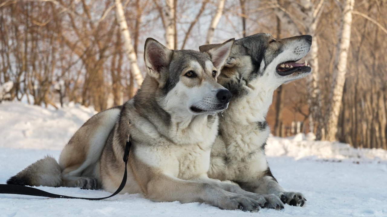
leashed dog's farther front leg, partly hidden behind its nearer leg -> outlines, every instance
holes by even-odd
[[[236,193],[243,195],[245,197],[250,197],[253,198],[254,200],[257,200],[259,202],[260,207],[265,207],[265,208],[271,208],[271,209],[283,209],[284,204],[279,200],[279,197],[276,195],[270,195],[270,194],[257,194],[257,193],[252,193],[243,190],[240,188],[239,185],[237,184],[231,184],[227,183],[225,181],[220,181],[217,179],[212,179],[208,178],[206,175],[202,175],[200,177],[195,178],[195,181],[202,181],[205,183],[211,183],[212,185],[215,185],[219,188],[222,188],[223,190],[226,190],[231,193]]]

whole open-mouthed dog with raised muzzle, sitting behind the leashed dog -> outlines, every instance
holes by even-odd
[[[303,206],[301,193],[286,192],[272,175],[265,156],[270,129],[266,114],[273,92],[281,84],[310,73],[303,58],[312,45],[312,36],[275,39],[255,34],[235,41],[218,83],[233,97],[221,113],[219,136],[211,151],[210,178],[231,180],[249,192],[274,194],[281,201]],[[208,51],[217,44],[200,46]]]

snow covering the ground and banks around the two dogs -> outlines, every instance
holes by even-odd
[[[22,103],[0,104],[0,183],[37,159],[58,158],[76,129],[94,111],[68,105],[59,111]],[[279,183],[307,198],[304,207],[258,213],[220,210],[206,204],[151,202],[141,195],[102,201],[0,195],[0,217],[10,216],[387,216],[387,152],[346,144],[313,142],[310,135],[271,137],[268,161]],[[103,190],[38,187],[78,197],[103,197]]]

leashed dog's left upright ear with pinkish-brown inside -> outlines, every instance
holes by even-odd
[[[160,42],[147,38],[144,48],[144,61],[148,74],[156,80],[161,78],[161,73],[168,69],[173,51],[166,48]]]

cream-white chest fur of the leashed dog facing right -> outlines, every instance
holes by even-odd
[[[200,117],[204,116],[204,117]],[[207,173],[218,118],[197,115],[187,122],[172,122],[169,135],[151,134],[150,145],[141,145],[135,154],[149,166],[181,179]]]

